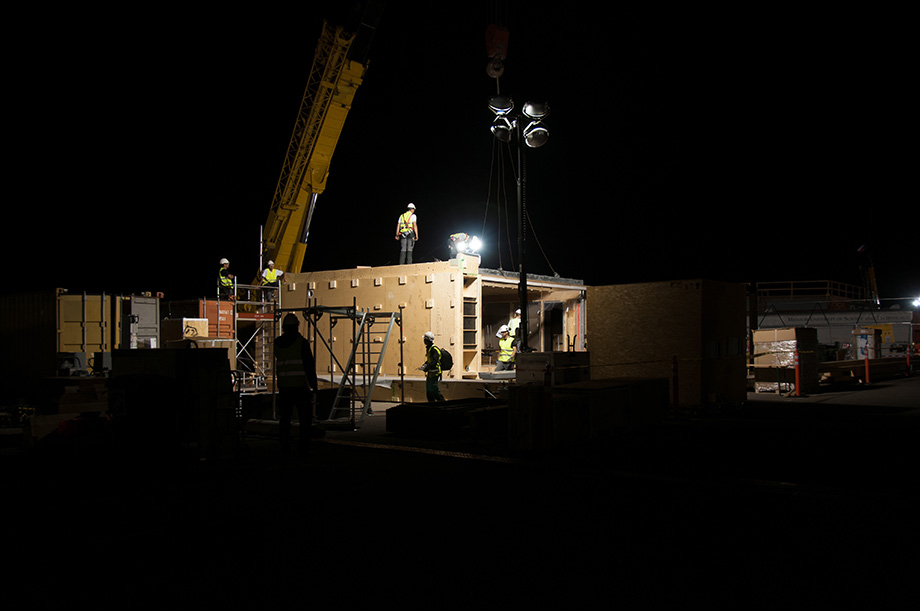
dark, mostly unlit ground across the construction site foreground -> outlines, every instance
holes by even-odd
[[[540,452],[394,435],[388,407],[327,430],[306,459],[271,435],[207,461],[108,444],[4,454],[4,597],[918,608],[920,377],[752,393]]]

